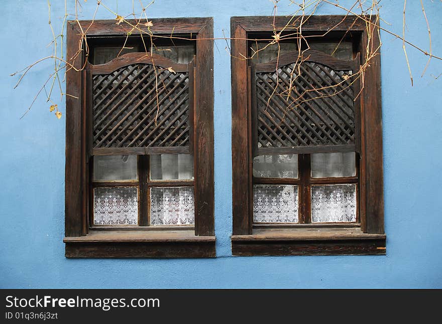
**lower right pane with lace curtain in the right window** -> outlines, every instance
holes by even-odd
[[[356,185],[311,186],[311,222],[356,222]]]

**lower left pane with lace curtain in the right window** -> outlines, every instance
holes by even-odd
[[[255,223],[297,223],[298,186],[253,186],[253,221]]]

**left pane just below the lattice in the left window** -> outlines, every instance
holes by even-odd
[[[137,155],[95,155],[93,180],[137,180]]]

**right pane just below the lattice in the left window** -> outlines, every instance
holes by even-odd
[[[193,155],[190,154],[151,155],[150,179],[193,180]]]

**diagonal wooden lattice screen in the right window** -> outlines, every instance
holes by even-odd
[[[258,146],[355,144],[349,74],[313,62],[256,73]]]

